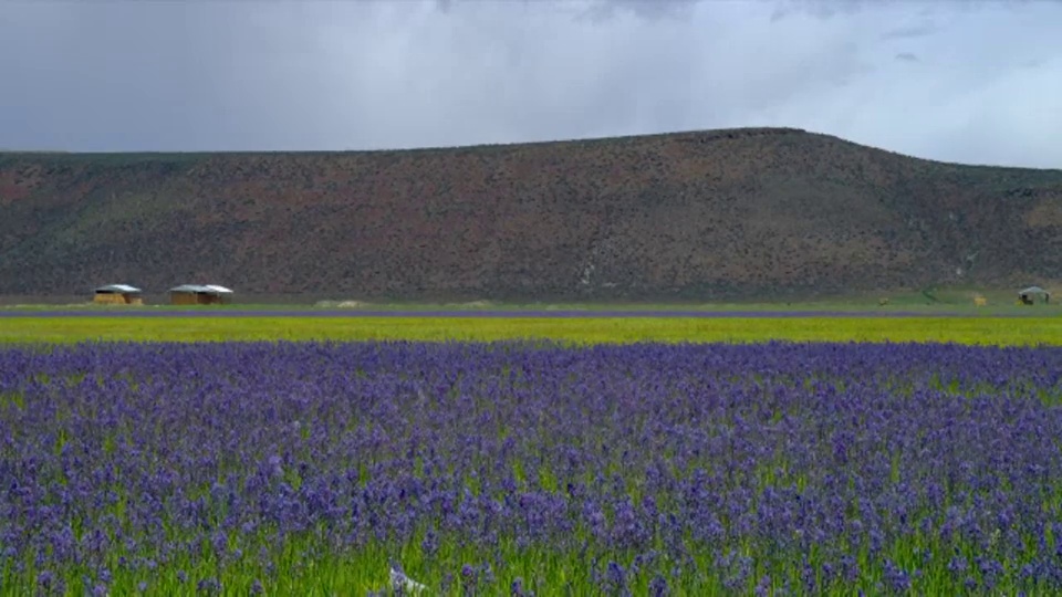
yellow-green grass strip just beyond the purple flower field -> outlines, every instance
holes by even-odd
[[[222,341],[956,342],[1062,345],[1062,317],[12,317],[0,343]]]

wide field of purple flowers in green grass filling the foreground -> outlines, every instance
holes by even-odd
[[[0,349],[0,593],[1062,591],[1062,349]]]

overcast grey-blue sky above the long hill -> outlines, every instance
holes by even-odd
[[[0,0],[0,148],[742,126],[1062,168],[1062,2]]]

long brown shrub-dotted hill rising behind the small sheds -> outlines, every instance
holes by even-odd
[[[799,129],[446,149],[0,154],[0,294],[718,300],[1062,273],[1062,171]]]

